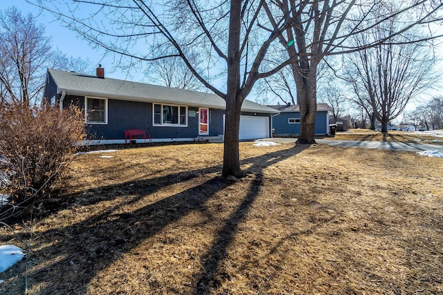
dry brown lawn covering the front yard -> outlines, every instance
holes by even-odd
[[[0,294],[442,294],[443,159],[222,144],[79,155]],[[114,158],[101,158],[103,155]],[[26,276],[26,278],[25,278]]]

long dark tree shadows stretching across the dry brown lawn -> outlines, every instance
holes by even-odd
[[[300,146],[242,161],[242,164],[252,164],[247,171],[253,171],[255,179],[244,200],[239,203],[237,209],[226,220],[218,231],[215,242],[204,254],[201,261],[204,269],[202,269],[200,275],[197,275],[199,279],[197,285],[195,285],[195,294],[208,292],[216,283],[213,276],[217,272],[219,262],[230,242],[232,242],[239,222],[242,222],[245,214],[251,208],[251,204],[259,196],[260,189],[263,186],[263,169],[291,158],[307,148],[309,146]],[[57,238],[57,240],[47,247],[33,250],[29,257],[33,265],[28,267],[27,276],[33,278],[35,282],[47,286],[43,294],[85,294],[88,284],[102,269],[114,263],[123,254],[134,249],[147,238],[154,236],[166,226],[177,222],[192,211],[205,211],[206,202],[217,196],[217,192],[235,184],[236,180],[216,175],[195,187],[163,198],[135,211],[116,213],[118,209],[127,204],[135,203],[171,184],[199,178],[201,175],[215,173],[220,169],[221,166],[217,165],[150,180],[100,187],[101,198],[91,203],[84,200],[85,206],[101,200],[109,200],[108,197],[116,198],[116,194],[112,193],[116,189],[119,190],[119,198],[128,197],[128,200],[112,205],[102,213],[91,216],[87,220],[36,233],[42,237]],[[129,184],[133,185],[129,187]],[[126,189],[122,189],[122,185]],[[96,191],[97,189],[80,191],[73,196],[67,196],[67,198],[82,198],[84,194]],[[73,209],[76,206],[78,204],[73,204],[71,208],[65,208]],[[34,263],[33,258],[35,258]],[[60,265],[64,265],[62,274],[57,268]],[[72,267],[66,267],[66,265]],[[6,275],[10,277],[13,272],[16,272],[16,270],[6,272]],[[19,278],[16,278],[16,280],[15,285],[22,285]],[[7,285],[10,284],[0,285],[0,292],[3,290],[7,294]]]

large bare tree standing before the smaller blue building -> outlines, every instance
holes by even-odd
[[[442,7],[441,1],[422,0],[397,6],[395,10],[379,19],[370,17],[388,1],[336,1],[336,0],[275,0],[273,6],[265,6],[269,15],[269,28],[280,26],[275,15],[293,17],[293,26],[279,36],[280,44],[287,50],[289,57],[296,57],[291,63],[293,79],[297,88],[297,103],[300,106],[301,131],[298,143],[314,143],[314,124],[316,114],[316,74],[318,64],[329,55],[343,55],[391,42],[392,38],[410,28],[431,21],[440,20],[435,11]],[[275,6],[277,8],[275,8]],[[365,35],[379,24],[394,17],[408,15],[402,26],[383,35],[379,39],[367,40],[364,44],[350,43],[350,37]],[[409,43],[435,36],[420,35]]]

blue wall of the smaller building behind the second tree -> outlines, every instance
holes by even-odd
[[[300,113],[280,113],[280,115],[272,118],[272,128],[274,129],[274,136],[278,135],[299,135],[300,123],[289,124],[289,118],[300,119]],[[315,134],[327,133],[327,112],[316,113],[316,124],[314,127]]]

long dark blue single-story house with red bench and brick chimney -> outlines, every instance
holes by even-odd
[[[111,79],[104,72],[100,66],[96,76],[52,68],[46,73],[44,99],[84,111],[87,143],[125,143],[129,129],[144,130],[152,142],[223,140],[226,102],[218,95]],[[273,115],[274,108],[245,99],[239,139],[271,137]]]

